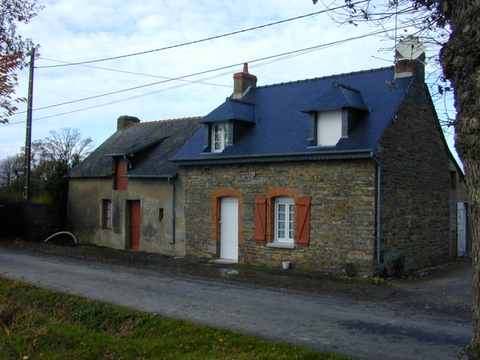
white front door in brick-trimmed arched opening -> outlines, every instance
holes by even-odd
[[[232,196],[220,203],[220,259],[239,261],[239,200]]]

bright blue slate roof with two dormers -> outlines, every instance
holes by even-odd
[[[255,108],[255,124],[248,127],[232,146],[227,146],[222,153],[203,153],[206,127],[202,127],[170,160],[187,164],[216,160],[253,161],[253,158],[262,157],[274,160],[280,155],[295,158],[300,155],[315,157],[335,153],[353,156],[375,152],[413,81],[413,77],[404,77],[396,79],[395,84],[387,83],[393,79],[394,71],[393,67],[381,68],[258,86],[241,99],[249,108]],[[238,101],[226,101],[206,115],[202,122],[236,118],[223,111],[224,108],[233,108],[234,103]],[[340,139],[336,146],[310,146],[308,113],[303,111],[343,106],[364,111],[365,119],[359,121],[349,131],[348,138]]]

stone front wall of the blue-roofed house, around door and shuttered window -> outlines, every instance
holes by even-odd
[[[239,262],[339,272],[346,262],[372,273],[375,165],[372,160],[184,166],[185,252],[212,258],[220,246],[219,198],[239,198]],[[267,248],[255,243],[254,196],[284,191],[310,196],[310,246]],[[283,190],[279,190],[283,189]]]

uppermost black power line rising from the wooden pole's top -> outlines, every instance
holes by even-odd
[[[307,14],[307,15],[301,15],[301,16],[297,16],[296,18],[291,18],[291,19],[286,19],[286,20],[281,20],[281,21],[277,21],[276,23],[270,23],[270,24],[266,24],[266,25],[260,25],[260,26],[256,26],[256,27],[251,27],[249,29],[246,29],[246,30],[239,30],[239,31],[236,31],[236,32],[229,32],[228,34],[223,34],[223,35],[217,35],[216,37],[208,37],[206,39],[201,39],[201,40],[196,40],[196,41],[190,41],[190,42],[186,42],[184,44],[178,44],[178,45],[172,45],[172,46],[166,46],[164,48],[160,48],[160,49],[154,49],[154,50],[149,50],[149,51],[142,51],[142,52],[139,52],[139,53],[131,53],[129,55],[122,55],[122,56],[114,56],[112,58],[103,58],[103,59],[99,59],[99,60],[89,60],[89,61],[82,61],[81,63],[68,63],[68,64],[63,64],[63,65],[50,65],[50,66],[37,66],[36,68],[37,69],[42,69],[42,68],[59,68],[59,67],[62,67],[62,66],[71,66],[71,65],[82,65],[82,64],[88,64],[88,63],[98,63],[99,61],[106,61],[106,60],[114,60],[114,59],[119,59],[119,58],[127,58],[129,56],[137,56],[137,55],[142,55],[144,53],[153,53],[155,51],[162,51],[162,50],[167,50],[167,49],[173,49],[173,48],[177,48],[177,47],[180,47],[180,46],[186,46],[186,45],[191,45],[191,44],[197,44],[199,42],[203,42],[203,41],[208,41],[208,40],[213,40],[213,39],[219,39],[220,37],[228,37],[230,35],[234,35],[234,34],[240,34],[241,32],[248,32],[248,31],[251,31],[251,30],[257,30],[257,29],[261,29],[263,27],[269,27],[269,26],[272,26],[272,25],[278,25],[278,24],[282,24],[282,23],[287,23],[289,21],[292,21],[292,20],[298,20],[298,19],[301,19],[301,18],[307,18],[308,16],[313,16],[313,15],[319,15],[321,13],[327,13],[329,11],[336,11],[336,10],[339,10],[341,8],[346,8],[346,7],[351,7],[351,6],[354,6],[354,5],[358,5],[358,4],[362,4],[362,3],[365,3],[367,1],[370,1],[370,0],[362,0],[362,1],[358,1],[356,3],[353,3],[353,4],[346,4],[346,5],[343,5],[343,6],[337,6],[336,8],[326,8],[322,11],[317,11],[317,13],[310,13],[310,14]]]

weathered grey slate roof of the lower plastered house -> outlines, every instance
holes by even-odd
[[[127,155],[127,177],[173,177],[177,165],[168,160],[198,130],[201,117],[140,122],[117,131],[67,174],[69,178],[108,177],[112,156]]]

